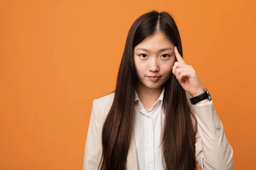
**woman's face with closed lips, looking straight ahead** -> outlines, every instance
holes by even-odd
[[[134,62],[140,83],[148,88],[161,87],[172,75],[174,45],[157,33],[134,48]],[[157,76],[158,78],[149,78]]]

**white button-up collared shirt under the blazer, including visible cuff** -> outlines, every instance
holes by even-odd
[[[160,97],[146,111],[135,91],[135,141],[137,149],[137,160],[139,170],[163,170],[162,150],[160,148],[161,131],[165,114],[163,111],[164,87]],[[205,104],[209,105],[211,100]]]

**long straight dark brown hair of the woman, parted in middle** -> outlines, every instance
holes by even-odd
[[[180,34],[172,14],[151,11],[132,24],[120,63],[113,104],[102,129],[100,170],[125,170],[134,131],[134,97],[139,82],[134,64],[134,47],[161,31],[177,46],[181,56]],[[175,59],[175,61],[177,61]],[[166,170],[195,170],[195,115],[189,108],[186,92],[175,75],[164,83],[165,122],[162,132],[162,160]],[[98,169],[99,169],[98,168]]]

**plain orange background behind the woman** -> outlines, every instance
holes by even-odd
[[[9,0],[0,3],[0,169],[81,170],[93,99],[114,90],[131,24],[171,12],[234,150],[255,168],[256,2]]]

